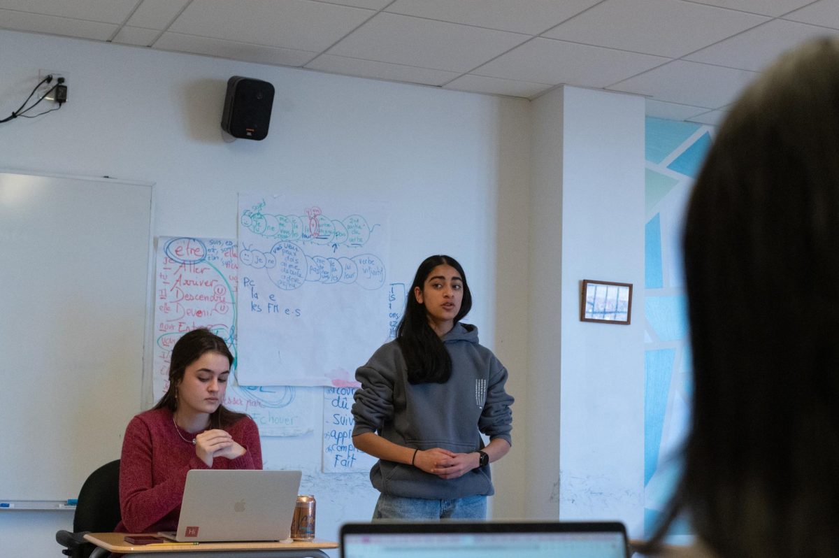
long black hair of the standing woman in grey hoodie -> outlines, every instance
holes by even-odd
[[[455,323],[461,321],[461,318],[472,310],[472,293],[469,291],[469,284],[466,283],[466,274],[463,273],[461,264],[451,256],[437,255],[425,258],[414,275],[414,283],[411,284],[408,293],[405,313],[396,329],[396,342],[402,349],[410,383],[446,383],[451,377],[449,352],[446,351],[440,337],[431,329],[425,305],[418,302],[414,295],[415,287],[423,289],[425,279],[428,279],[431,271],[438,265],[451,265],[463,279],[463,299],[461,310],[455,316]]]

